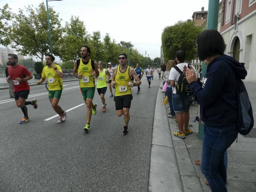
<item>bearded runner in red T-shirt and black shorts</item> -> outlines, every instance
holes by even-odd
[[[32,79],[31,73],[28,69],[22,65],[18,64],[18,56],[15,54],[8,54],[8,74],[6,81],[12,81],[14,87],[14,96],[17,107],[20,107],[21,111],[24,114],[24,117],[21,119],[20,124],[27,123],[30,119],[28,117],[28,109],[26,105],[33,105],[37,108],[37,100],[33,99],[32,101],[26,101],[29,94],[29,85],[28,80]]]

